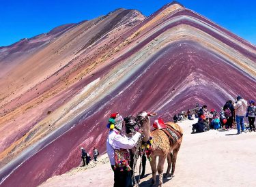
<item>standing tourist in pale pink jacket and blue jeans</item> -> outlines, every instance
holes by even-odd
[[[236,109],[236,126],[238,128],[238,135],[244,132],[244,115],[246,113],[246,107],[247,101],[242,99],[242,97],[239,95],[236,98],[236,103],[234,104],[234,108]]]

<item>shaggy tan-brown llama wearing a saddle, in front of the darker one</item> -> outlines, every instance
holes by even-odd
[[[173,129],[175,133],[180,133],[180,138],[171,141],[170,137],[162,131],[161,129],[156,129],[154,131],[150,131],[150,118],[149,116],[156,116],[156,114],[150,114],[147,112],[139,112],[137,114],[137,121],[141,124],[141,128],[143,129],[143,142],[151,142],[152,150],[150,150],[151,154],[147,152],[147,156],[149,156],[150,165],[152,169],[152,184],[156,184],[156,171],[158,171],[159,175],[159,186],[162,186],[162,177],[163,177],[163,169],[165,164],[165,159],[167,158],[168,167],[167,172],[165,173],[165,177],[174,177],[175,171],[175,163],[177,159],[177,152],[180,150],[180,146],[182,143],[182,129],[179,125],[173,122],[167,122],[165,125]],[[150,144],[151,144],[150,143]],[[156,156],[159,156],[158,165],[156,167]],[[171,174],[170,174],[171,169]]]

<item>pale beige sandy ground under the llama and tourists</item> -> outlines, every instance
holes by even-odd
[[[186,120],[182,148],[177,157],[175,177],[164,179],[164,186],[256,186],[256,133],[235,135],[232,131],[190,134]],[[113,186],[113,172],[106,155],[92,168],[80,167],[47,180],[42,186]],[[165,170],[167,163],[165,165]],[[151,169],[140,186],[150,186]]]

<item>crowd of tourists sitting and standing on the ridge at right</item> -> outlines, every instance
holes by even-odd
[[[229,131],[233,129],[233,123],[235,122],[238,129],[237,134],[239,135],[245,132],[244,117],[248,118],[249,131],[255,131],[255,101],[250,100],[248,103],[241,96],[238,96],[234,103],[228,100],[225,105],[221,107],[219,116],[215,109],[211,109],[211,111],[208,112],[207,105],[203,105],[195,114],[195,118],[199,120],[196,124],[193,124],[192,133],[202,133],[209,129],[225,129]]]

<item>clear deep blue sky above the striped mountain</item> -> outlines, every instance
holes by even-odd
[[[0,0],[0,46],[61,24],[90,20],[119,7],[149,16],[171,0]],[[185,7],[256,44],[256,1],[180,0]]]

